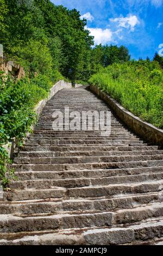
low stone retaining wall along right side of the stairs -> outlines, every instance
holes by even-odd
[[[89,88],[93,93],[108,103],[111,109],[117,114],[118,118],[124,121],[124,123],[126,123],[131,130],[137,133],[137,135],[141,136],[148,143],[152,143],[154,145],[163,145],[163,130],[142,121],[140,118],[123,108],[109,95],[103,93],[98,87],[91,85]]]

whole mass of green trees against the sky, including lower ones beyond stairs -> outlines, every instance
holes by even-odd
[[[17,60],[29,76],[53,72],[72,80],[90,75],[113,63],[130,60],[124,46],[93,46],[93,36],[76,9],[49,0],[0,0],[0,43],[7,58]],[[156,53],[154,60],[162,64]]]

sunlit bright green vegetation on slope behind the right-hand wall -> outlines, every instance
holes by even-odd
[[[89,82],[145,121],[163,129],[163,71],[149,60],[115,63]]]

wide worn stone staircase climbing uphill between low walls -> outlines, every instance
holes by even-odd
[[[85,87],[58,92],[15,157],[0,245],[161,244],[163,150],[111,112],[111,135],[54,131],[53,112],[110,111]]]

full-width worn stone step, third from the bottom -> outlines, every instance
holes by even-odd
[[[107,211],[117,209],[131,209],[145,204],[161,202],[159,193],[133,194],[125,197],[105,199],[71,199],[57,200],[55,198],[42,200],[15,201],[0,204],[0,214],[45,214],[65,211]]]

